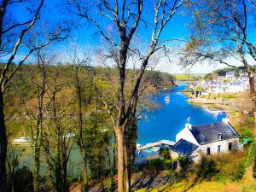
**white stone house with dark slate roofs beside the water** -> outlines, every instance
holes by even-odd
[[[223,122],[205,125],[186,124],[177,133],[172,149],[177,155],[189,156],[189,159],[197,162],[202,155],[227,153],[233,148],[242,148],[239,135],[224,119]]]

